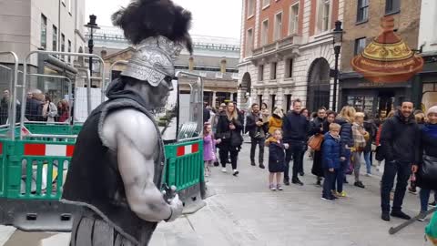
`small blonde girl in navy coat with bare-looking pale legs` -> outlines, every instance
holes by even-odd
[[[285,169],[285,149],[289,149],[289,145],[282,142],[282,132],[276,129],[266,140],[266,146],[269,146],[269,189],[282,190],[280,183]],[[273,181],[275,177],[276,184]]]

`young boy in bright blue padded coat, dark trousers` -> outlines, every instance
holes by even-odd
[[[322,200],[335,200],[332,194],[332,188],[334,182],[342,181],[342,175],[340,175],[340,161],[344,161],[344,151],[341,148],[340,143],[340,125],[337,123],[330,124],[330,131],[325,134],[323,144],[321,146],[322,168],[325,175],[323,181],[323,193]]]

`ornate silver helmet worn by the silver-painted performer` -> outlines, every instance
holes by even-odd
[[[152,87],[158,87],[165,77],[175,76],[174,61],[182,48],[165,36],[148,37],[137,45],[121,75],[147,81]]]

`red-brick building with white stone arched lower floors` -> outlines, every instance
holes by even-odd
[[[332,29],[344,0],[243,0],[239,107],[266,102],[290,108],[300,98],[310,110],[331,107]]]

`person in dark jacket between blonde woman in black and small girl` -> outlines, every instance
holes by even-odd
[[[246,117],[246,129],[249,131],[250,137],[250,164],[256,166],[255,164],[255,151],[257,145],[259,146],[259,168],[265,169],[264,167],[264,142],[266,141],[267,124],[268,122],[263,122],[259,115],[259,105],[258,103],[252,104],[252,111],[249,112]]]

